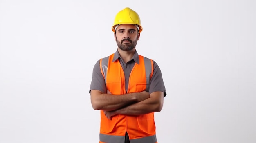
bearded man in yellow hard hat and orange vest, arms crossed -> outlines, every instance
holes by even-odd
[[[125,8],[112,26],[117,51],[96,62],[90,87],[94,110],[101,110],[99,143],[157,143],[154,112],[166,90],[155,61],[138,55],[139,15]]]

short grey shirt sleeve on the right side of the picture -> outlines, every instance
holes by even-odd
[[[149,84],[149,94],[156,91],[162,91],[164,92],[164,97],[165,97],[167,94],[166,94],[166,89],[164,86],[164,80],[162,77],[161,70],[155,61],[153,61],[153,66],[154,66],[154,71]]]

